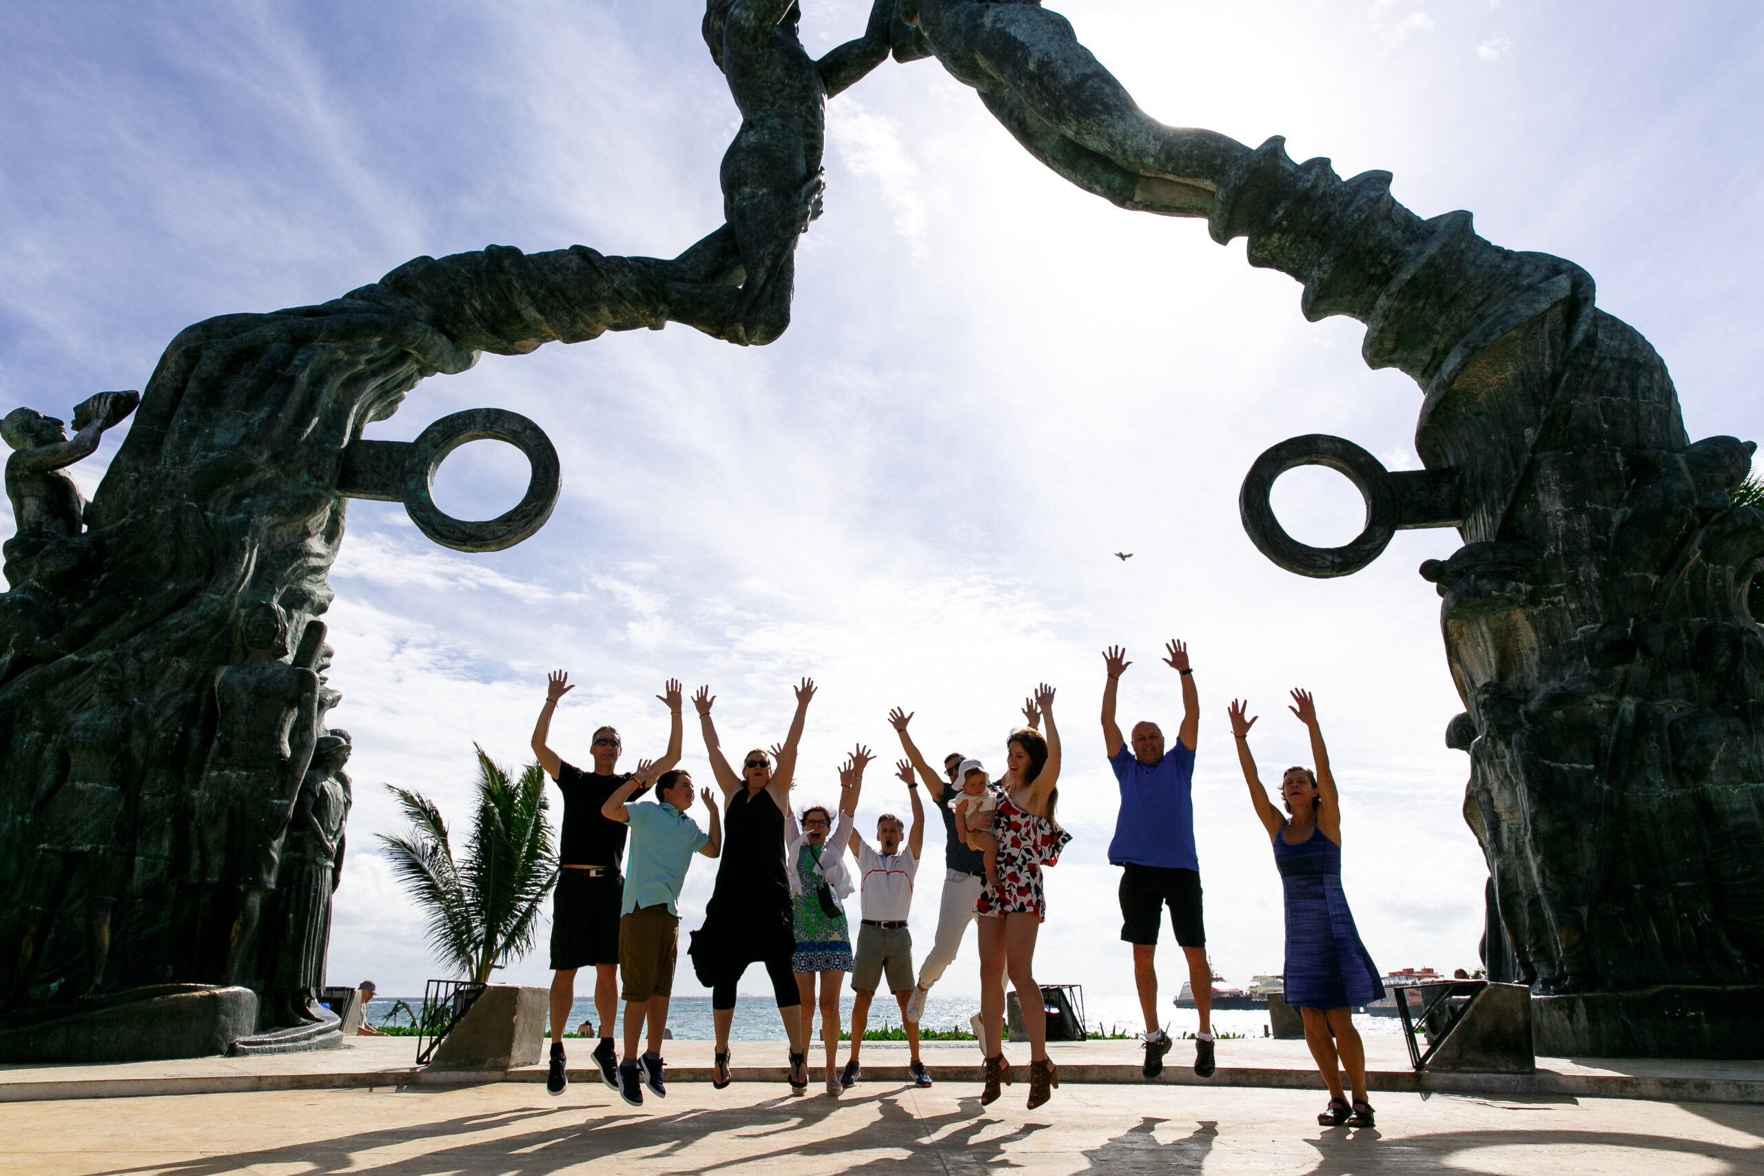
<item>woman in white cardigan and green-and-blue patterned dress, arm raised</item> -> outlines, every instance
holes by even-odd
[[[845,845],[857,809],[854,785],[868,762],[868,753],[857,748],[840,769],[838,820],[824,804],[811,804],[803,809],[801,823],[792,813],[785,829],[789,839],[785,864],[790,867],[796,926],[796,954],[790,957],[790,968],[796,971],[796,989],[803,998],[803,1042],[806,1049],[806,1042],[815,1037],[818,980],[827,1093],[834,1098],[845,1091],[840,1084],[840,989],[845,987],[845,975],[852,970],[852,929],[845,919],[845,899],[857,889],[845,867]]]

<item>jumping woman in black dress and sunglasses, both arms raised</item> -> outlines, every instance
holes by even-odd
[[[691,696],[699,709],[704,749],[711,770],[723,788],[723,855],[716,867],[716,889],[704,910],[704,926],[691,936],[691,966],[699,982],[711,989],[711,1019],[716,1024],[716,1077],[711,1084],[729,1086],[729,1024],[736,1019],[736,984],[748,964],[766,964],[785,1035],[790,1038],[790,1090],[808,1090],[808,1054],[803,1035],[803,1003],[790,957],[796,954],[790,875],[783,860],[783,815],[790,811],[790,783],[796,776],[796,748],[803,741],[803,719],[815,696],[815,682],[803,679],[796,688],[796,718],[776,755],[753,749],[741,762],[741,774],[729,765],[711,723],[716,698],[704,686]]]

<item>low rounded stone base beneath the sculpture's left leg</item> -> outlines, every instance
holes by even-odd
[[[0,1030],[0,1061],[210,1058],[256,1024],[249,987],[159,984],[12,1014]]]

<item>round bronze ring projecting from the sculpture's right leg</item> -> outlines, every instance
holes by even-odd
[[[1286,534],[1274,517],[1268,492],[1274,480],[1295,465],[1328,465],[1339,471],[1365,499],[1365,529],[1344,547],[1311,547]],[[1344,437],[1311,434],[1291,437],[1267,450],[1244,476],[1237,495],[1244,531],[1263,555],[1302,577],[1346,577],[1378,559],[1397,531],[1397,495],[1383,462]]]

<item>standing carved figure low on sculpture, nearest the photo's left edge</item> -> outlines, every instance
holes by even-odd
[[[146,762],[148,725],[136,702],[136,659],[113,652],[99,663],[97,696],[62,735],[58,770],[35,802],[37,853],[26,889],[25,933],[7,1007],[26,1001],[56,919],[76,880],[85,889],[86,956],[83,996],[104,989],[111,913],[127,873],[123,829]]]

